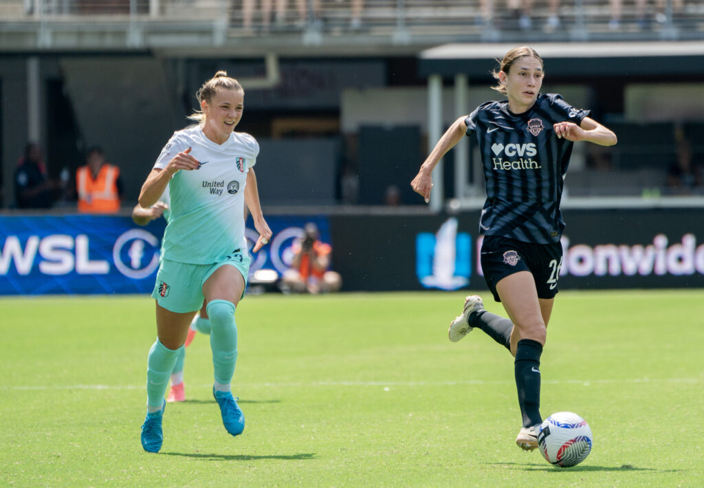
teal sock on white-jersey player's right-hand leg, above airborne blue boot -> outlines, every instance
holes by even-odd
[[[215,381],[232,382],[234,364],[237,362],[237,324],[234,323],[234,304],[227,300],[210,300],[210,349],[213,350]]]

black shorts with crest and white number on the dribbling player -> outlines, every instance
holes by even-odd
[[[553,298],[558,293],[562,266],[562,244],[531,244],[500,236],[484,236],[481,251],[482,271],[494,300],[501,302],[496,283],[510,274],[530,272],[538,298]]]

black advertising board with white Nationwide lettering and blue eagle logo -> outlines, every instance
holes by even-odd
[[[698,209],[565,211],[561,262],[569,288],[704,286],[704,218]],[[486,289],[479,211],[422,216],[332,216],[334,266],[344,290]]]

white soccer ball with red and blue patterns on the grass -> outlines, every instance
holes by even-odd
[[[538,446],[548,463],[561,468],[578,465],[591,451],[591,429],[572,412],[553,413],[539,429]]]

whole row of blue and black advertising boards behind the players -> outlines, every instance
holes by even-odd
[[[560,289],[704,287],[704,219],[693,208],[568,209]],[[291,262],[306,222],[333,245],[344,291],[485,290],[479,211],[268,215],[274,238],[250,273]],[[151,293],[165,222],[127,216],[0,216],[0,295]],[[258,237],[251,221],[251,249]]]

